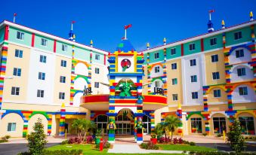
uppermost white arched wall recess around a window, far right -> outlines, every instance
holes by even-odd
[[[236,50],[241,50],[241,49],[244,50],[244,56],[236,58]],[[229,60],[230,60],[230,65],[240,63],[240,62],[249,62],[251,61],[251,52],[243,47],[236,48],[235,50],[233,50],[232,53],[230,53]]]

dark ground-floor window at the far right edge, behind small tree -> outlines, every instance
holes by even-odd
[[[242,134],[255,135],[253,117],[239,117],[239,122],[242,126]]]

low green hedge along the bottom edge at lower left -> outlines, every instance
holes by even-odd
[[[80,155],[82,150],[43,150],[41,155]],[[18,155],[32,155],[29,152],[18,153]]]

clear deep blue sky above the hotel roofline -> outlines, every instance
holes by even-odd
[[[135,49],[150,47],[189,38],[207,32],[208,11],[214,9],[214,29],[221,29],[221,20],[226,26],[249,20],[249,12],[256,18],[255,0],[91,0],[91,1],[5,1],[2,3],[0,20],[16,22],[68,38],[70,22],[75,20],[76,41],[111,51],[124,36],[124,26],[131,23],[128,39]]]

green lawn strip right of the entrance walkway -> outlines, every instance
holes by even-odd
[[[190,146],[187,144],[158,144],[159,147],[162,148],[162,150],[187,150],[187,151],[214,151],[217,149],[210,148],[210,147],[201,147],[201,146]]]

